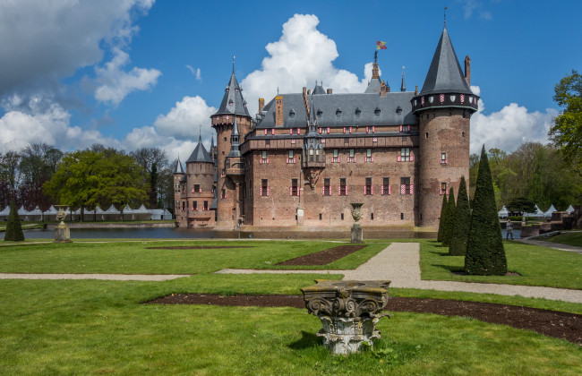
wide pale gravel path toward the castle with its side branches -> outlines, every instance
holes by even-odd
[[[354,270],[249,270],[225,269],[218,273],[316,273],[343,274],[344,279],[391,280],[391,287],[420,288],[424,290],[463,291],[466,293],[521,295],[526,297],[582,303],[582,290],[565,288],[498,285],[452,281],[424,281],[420,278],[420,244],[392,243],[369,261]]]

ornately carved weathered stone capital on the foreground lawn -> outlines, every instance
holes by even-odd
[[[380,339],[376,324],[388,302],[390,281],[315,280],[316,285],[301,289],[305,307],[321,320],[317,333],[332,354],[348,355],[373,339]]]

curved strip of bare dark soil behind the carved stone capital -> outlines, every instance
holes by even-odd
[[[146,303],[305,308],[303,296],[298,295],[172,294]],[[404,297],[389,298],[385,311],[470,317],[518,329],[534,330],[544,336],[582,345],[582,315],[575,313],[495,303]]]

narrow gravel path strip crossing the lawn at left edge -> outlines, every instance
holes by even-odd
[[[0,273],[0,279],[103,279],[110,281],[167,281],[187,274],[29,274]]]

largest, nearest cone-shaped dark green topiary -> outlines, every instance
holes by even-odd
[[[476,276],[504,276],[507,273],[507,259],[485,146],[481,150],[475,200],[471,208],[465,272]]]

